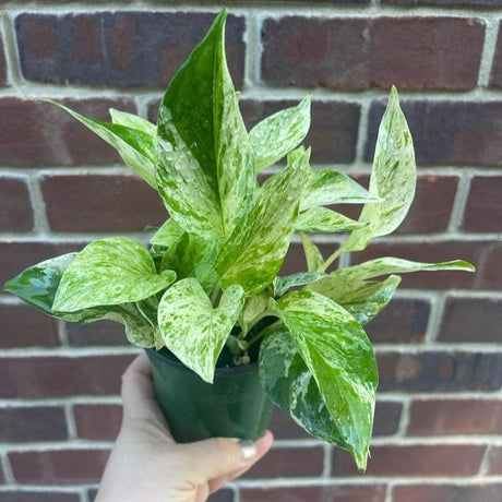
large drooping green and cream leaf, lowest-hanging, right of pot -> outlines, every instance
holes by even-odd
[[[350,313],[316,292],[291,291],[276,304],[334,421],[336,433],[331,441],[350,451],[364,469],[378,386],[370,340]],[[291,399],[303,401],[308,386],[298,391]]]

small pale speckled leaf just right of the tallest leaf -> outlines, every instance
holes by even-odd
[[[310,97],[292,108],[271,115],[249,133],[256,172],[261,172],[298,146],[310,128]]]

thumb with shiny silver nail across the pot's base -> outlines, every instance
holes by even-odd
[[[266,431],[254,442],[213,438],[177,446],[193,482],[202,483],[249,468],[271,449],[273,441],[272,432]]]

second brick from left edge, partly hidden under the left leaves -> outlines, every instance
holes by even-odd
[[[89,324],[67,323],[70,345],[85,347],[92,345],[129,345],[124,326],[111,321],[97,321]]]

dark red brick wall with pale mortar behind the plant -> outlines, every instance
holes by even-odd
[[[165,217],[115,153],[39,97],[155,117],[218,2],[2,2],[0,282]],[[372,458],[277,413],[274,450],[214,501],[502,500],[502,1],[228,1],[228,59],[249,124],[312,94],[315,166],[368,181],[394,83],[416,140],[413,210],[363,256],[464,258],[405,277],[373,323],[381,385]],[[154,14],[155,12],[155,14]],[[336,239],[319,238],[324,251]],[[285,270],[303,267],[298,240]],[[64,325],[0,294],[0,501],[88,502],[120,422],[135,349],[118,325]]]

